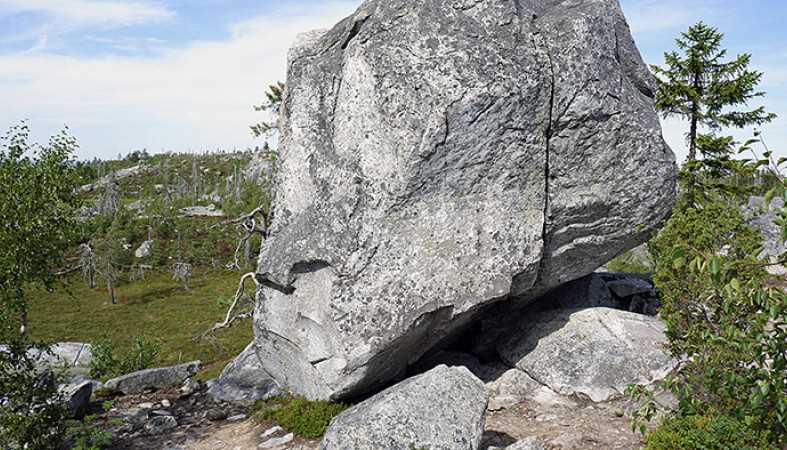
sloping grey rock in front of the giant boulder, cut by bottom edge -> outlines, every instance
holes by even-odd
[[[438,366],[333,419],[322,450],[475,450],[487,392],[464,367]]]

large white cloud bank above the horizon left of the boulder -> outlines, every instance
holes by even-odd
[[[155,57],[0,56],[0,129],[29,119],[44,140],[67,124],[82,157],[254,145],[248,125],[260,117],[252,105],[268,84],[284,79],[296,34],[332,26],[357,4],[258,17],[233,27],[227,41]]]

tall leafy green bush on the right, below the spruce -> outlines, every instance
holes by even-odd
[[[676,417],[708,410],[777,442],[787,436],[787,294],[767,287],[760,236],[737,207],[683,204],[651,242]]]

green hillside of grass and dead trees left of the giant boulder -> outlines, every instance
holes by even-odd
[[[68,252],[63,271],[72,272],[51,292],[30,295],[30,335],[43,342],[109,342],[121,351],[136,337],[155,343],[154,365],[199,359],[201,378],[215,377],[252,339],[244,319],[227,330],[200,338],[224,319],[242,272],[253,269],[260,237],[239,246],[245,232],[222,221],[269,204],[266,174],[248,169],[253,159],[273,157],[265,151],[217,152],[202,155],[134,152],[115,161],[80,163],[83,211],[81,243]],[[140,167],[139,173],[99,180]],[[246,173],[244,173],[246,172]],[[118,209],[101,211],[114,189]],[[181,208],[214,205],[224,217],[185,217]],[[150,255],[136,249],[152,241]],[[95,272],[83,267],[84,244],[91,246]],[[237,265],[236,250],[239,250]],[[190,267],[188,279],[175,279],[174,266]],[[116,304],[108,289],[111,273]],[[246,303],[245,307],[250,307]]]

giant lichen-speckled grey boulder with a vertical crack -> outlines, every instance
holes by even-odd
[[[309,397],[398,378],[485,306],[640,244],[674,201],[617,0],[369,0],[299,40],[287,86],[255,334]]]

